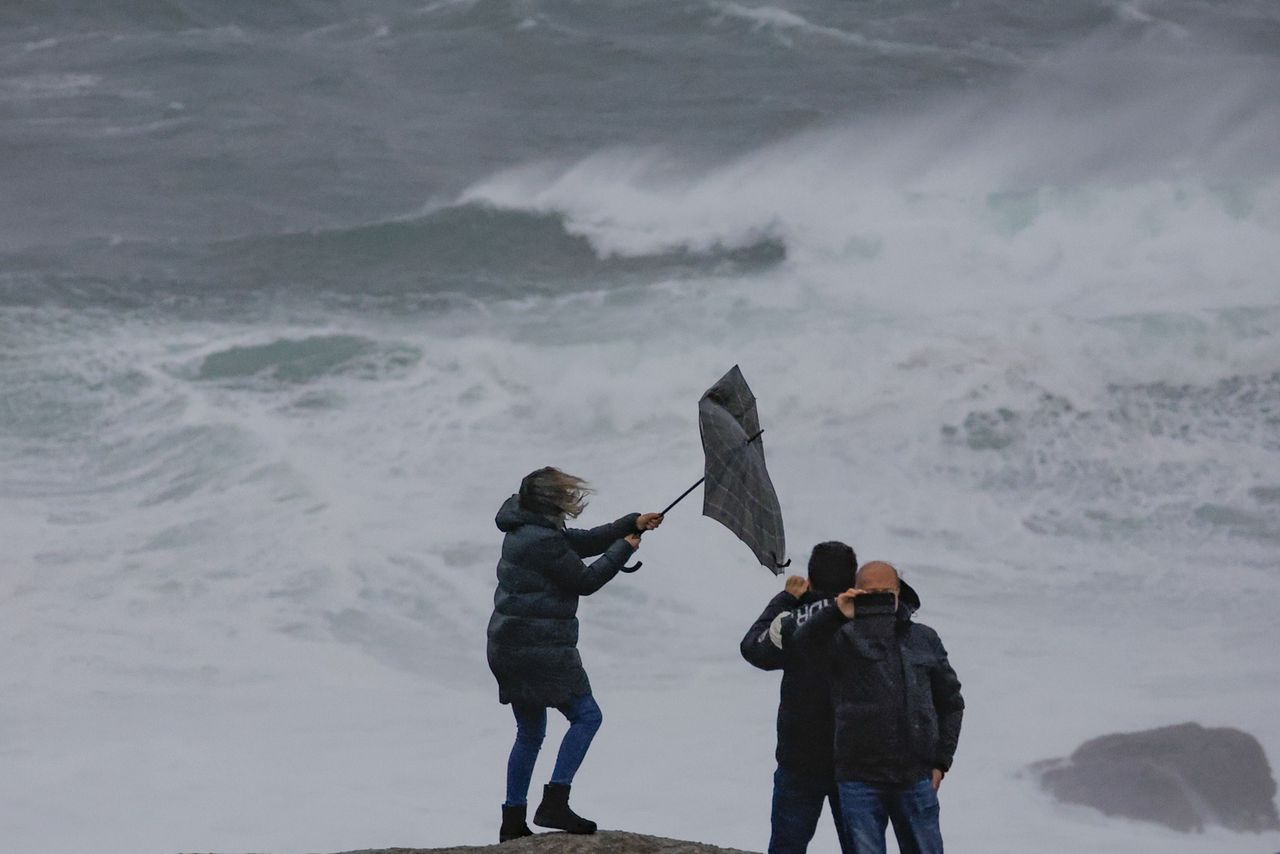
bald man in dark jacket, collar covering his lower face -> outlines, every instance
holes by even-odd
[[[796,630],[803,654],[831,661],[836,781],[845,834],[884,854],[942,854],[938,787],[951,768],[964,698],[936,631],[913,620],[897,570],[864,563],[854,588]]]

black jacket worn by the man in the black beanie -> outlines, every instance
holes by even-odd
[[[920,598],[906,583],[901,598],[911,611],[920,607]],[[783,590],[769,600],[740,645],[742,658],[755,667],[782,671],[778,764],[794,773],[823,780],[832,778],[836,764],[828,645],[800,650],[792,640],[799,626],[827,608],[835,608],[835,599],[826,593],[810,589],[797,599]],[[778,631],[772,632],[780,615]]]

